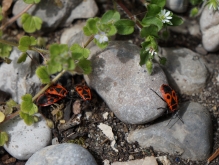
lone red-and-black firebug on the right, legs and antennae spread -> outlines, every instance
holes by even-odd
[[[160,87],[160,92],[162,94],[162,97],[159,94],[157,94],[157,92],[155,92],[153,89],[151,89],[151,90],[157,96],[159,96],[164,102],[167,103],[168,112],[175,113],[175,115],[173,117],[177,116],[181,120],[181,122],[184,123],[183,120],[180,118],[180,116],[178,114],[178,112],[179,112],[178,111],[179,110],[179,100],[178,100],[178,96],[177,96],[176,92],[167,84],[163,84]],[[161,108],[162,107],[160,107],[158,109],[161,109]],[[165,109],[165,108],[162,108],[162,109]],[[170,121],[171,121],[171,119],[170,119]],[[168,124],[170,123],[170,121],[168,122]]]

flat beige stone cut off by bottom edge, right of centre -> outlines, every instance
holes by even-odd
[[[111,165],[158,165],[155,157],[145,157],[144,159],[137,159],[128,162],[114,162]]]

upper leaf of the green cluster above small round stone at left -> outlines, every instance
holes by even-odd
[[[28,115],[33,115],[38,112],[38,108],[33,103],[32,96],[30,94],[22,96],[21,111]]]

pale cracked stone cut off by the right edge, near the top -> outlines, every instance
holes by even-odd
[[[200,17],[202,44],[209,52],[219,50],[219,12],[205,7]]]

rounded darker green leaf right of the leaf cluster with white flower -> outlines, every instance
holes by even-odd
[[[115,24],[117,33],[121,35],[128,35],[134,32],[135,22],[127,19],[121,19]]]

